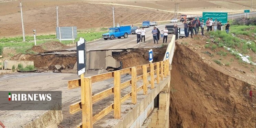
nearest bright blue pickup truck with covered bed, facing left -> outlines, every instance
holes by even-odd
[[[109,28],[108,33],[102,34],[104,40],[115,39],[116,37],[120,39],[121,37],[127,38],[128,34],[131,34],[131,26],[120,26],[115,28]]]

